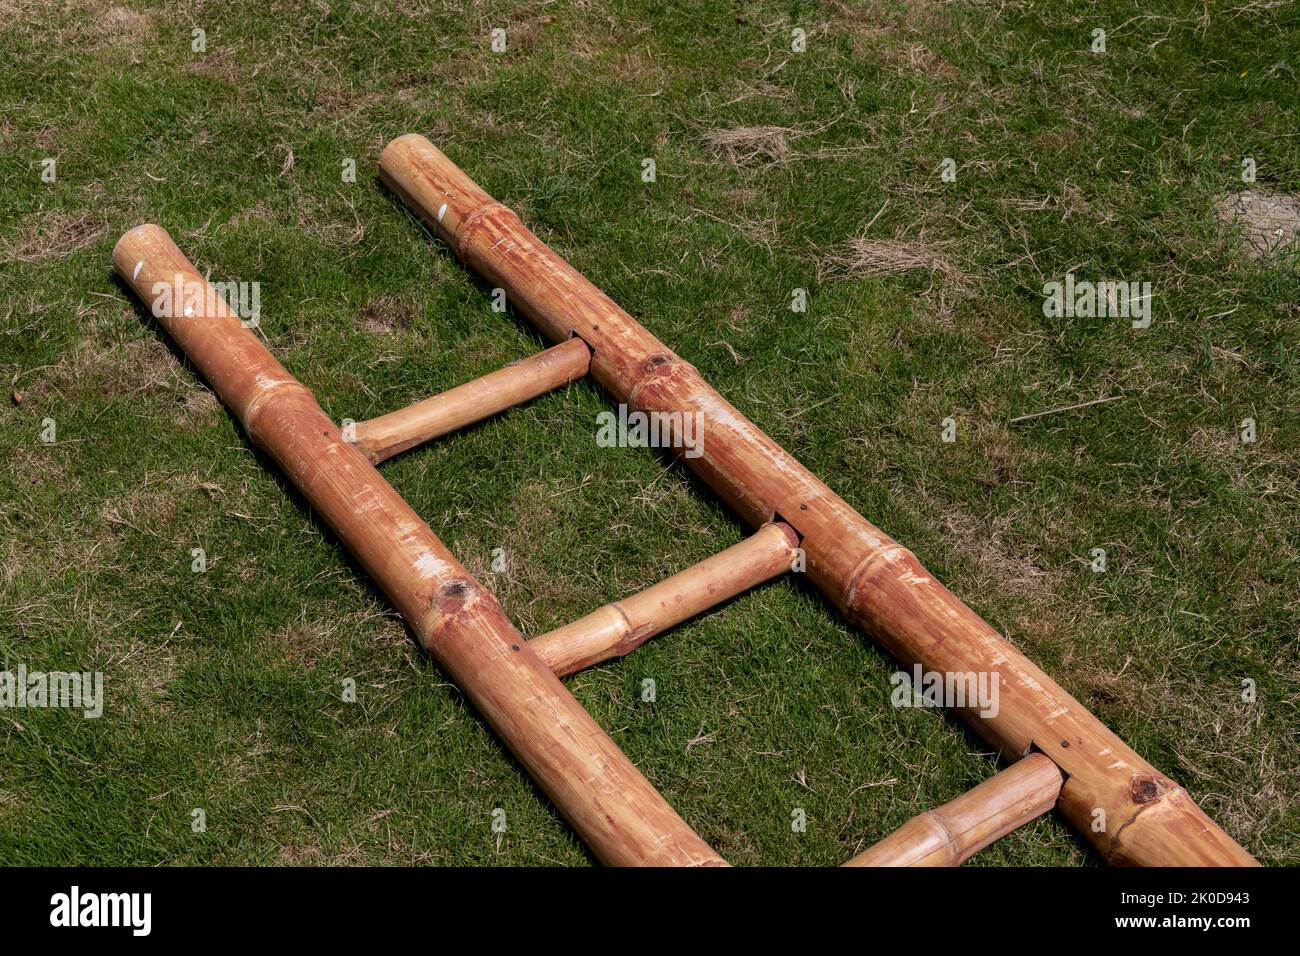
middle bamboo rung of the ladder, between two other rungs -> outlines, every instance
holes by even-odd
[[[673,624],[785,574],[798,545],[790,525],[764,524],[740,544],[528,644],[562,678],[623,657]]]

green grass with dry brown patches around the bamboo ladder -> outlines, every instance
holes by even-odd
[[[339,419],[536,350],[374,182],[406,131],[1261,860],[1300,858],[1297,276],[1213,217],[1243,156],[1300,191],[1300,5],[451,7],[0,3],[0,661],[101,670],[108,697],[0,711],[0,862],[590,861],[110,272],[155,221],[261,282],[268,345]],[[759,126],[788,133],[711,146]],[[864,274],[859,235],[946,272]],[[1150,328],[1044,317],[1067,269],[1150,281]],[[653,453],[598,449],[607,407],[575,384],[385,466],[525,633],[745,533]],[[994,770],[890,708],[892,670],[776,583],[568,683],[729,861],[831,865]],[[1048,817],[972,865],[1096,862]]]

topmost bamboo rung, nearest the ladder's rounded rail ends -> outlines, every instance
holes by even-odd
[[[356,446],[372,462],[568,385],[586,375],[592,350],[569,338],[526,359],[447,389],[406,408],[356,424]]]

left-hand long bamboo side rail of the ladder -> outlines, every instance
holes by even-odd
[[[113,250],[146,303],[156,289],[198,291],[161,325],[334,529],[573,829],[606,864],[720,865],[618,745],[573,700],[497,600],[443,546],[312,393],[243,328],[156,225]]]

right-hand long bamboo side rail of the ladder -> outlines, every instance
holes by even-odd
[[[456,255],[551,341],[593,350],[592,375],[646,412],[705,416],[693,468],[750,525],[784,520],[807,574],[850,620],[905,665],[996,674],[1000,708],[959,715],[1005,760],[1031,749],[1069,777],[1065,817],[1114,864],[1253,865],[1173,780],[1139,757],[916,557],[867,522],[728,405],[699,373],[533,235],[424,137],[394,139],[380,177]]]

